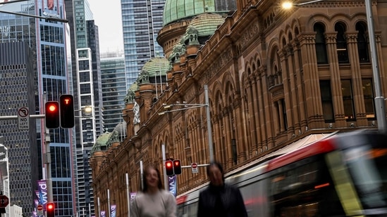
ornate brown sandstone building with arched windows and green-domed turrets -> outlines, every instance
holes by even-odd
[[[166,18],[157,40],[168,60],[149,60],[128,90],[125,140],[113,131],[94,145],[94,204],[99,199],[101,209],[116,204],[117,216],[127,216],[127,187],[140,190],[140,162],[162,171],[162,145],[166,158],[183,165],[209,163],[205,107],[173,106],[203,104],[204,85],[214,158],[228,172],[306,136],[377,128],[364,1],[319,1],[291,11],[280,1],[237,2],[225,6],[235,10],[203,6]],[[383,96],[386,8],[372,1]],[[178,111],[159,115],[166,105]],[[179,195],[208,179],[204,169],[183,169],[177,180]]]

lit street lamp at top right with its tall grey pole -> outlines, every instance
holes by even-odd
[[[291,1],[285,1],[282,4],[283,9],[290,9],[293,6],[302,6],[305,4],[312,4],[318,1],[324,0],[315,0],[302,2],[300,4],[295,4]],[[376,109],[376,120],[378,121],[378,129],[380,133],[387,133],[387,120],[386,120],[386,108],[384,97],[381,92],[381,79],[379,74],[379,63],[378,63],[378,53],[376,51],[376,42],[375,42],[375,30],[374,30],[374,19],[372,18],[371,10],[371,0],[365,0],[366,5],[366,14],[367,14],[367,25],[368,25],[368,34],[369,34],[369,48],[371,51],[371,65],[372,65],[372,76],[374,77],[374,88],[375,88],[375,109]]]

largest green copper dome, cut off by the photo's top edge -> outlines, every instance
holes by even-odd
[[[163,25],[192,18],[205,12],[228,13],[235,11],[235,0],[166,0]]]

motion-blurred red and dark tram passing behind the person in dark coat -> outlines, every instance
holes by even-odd
[[[387,136],[335,133],[228,173],[226,183],[240,188],[249,216],[387,216]],[[178,216],[197,216],[207,185],[177,197]]]

